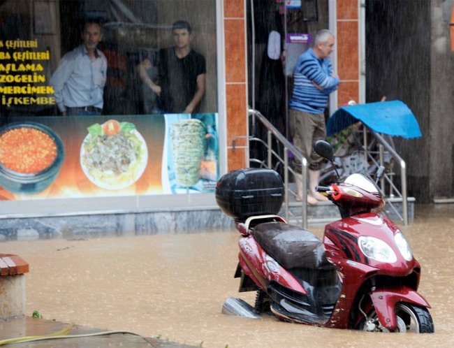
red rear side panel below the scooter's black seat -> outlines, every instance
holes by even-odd
[[[257,280],[258,284],[256,284],[261,289],[266,291],[269,282],[275,280],[285,287],[307,295],[307,291],[300,282],[268,255],[252,235],[240,238],[238,244],[240,245],[240,263],[244,262],[249,268],[249,271],[243,268],[244,273],[254,282]]]

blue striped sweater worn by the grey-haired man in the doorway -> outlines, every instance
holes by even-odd
[[[328,95],[339,85],[339,78],[333,78],[331,74],[332,66],[329,58],[319,59],[312,48],[300,55],[293,75],[294,85],[290,108],[305,113],[323,113],[328,103]],[[312,81],[322,89],[315,87]]]

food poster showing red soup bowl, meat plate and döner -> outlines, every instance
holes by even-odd
[[[11,117],[0,130],[0,200],[212,192],[217,144],[217,114]],[[12,156],[45,168],[16,168]]]

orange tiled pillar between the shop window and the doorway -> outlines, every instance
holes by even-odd
[[[224,1],[228,171],[247,166],[247,65],[244,0]],[[236,137],[236,138],[235,138]],[[241,138],[239,138],[241,137]],[[236,140],[233,152],[233,139]]]

